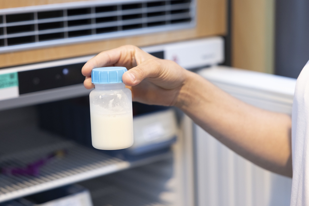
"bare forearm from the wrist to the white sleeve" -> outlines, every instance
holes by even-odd
[[[243,103],[197,74],[187,76],[177,107],[241,156],[292,176],[290,116]]]

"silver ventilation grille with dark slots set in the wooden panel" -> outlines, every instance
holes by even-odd
[[[0,10],[0,52],[194,26],[193,0],[73,2]]]

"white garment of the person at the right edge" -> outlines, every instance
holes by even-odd
[[[309,205],[309,61],[296,81],[292,107],[292,163],[290,206]]]

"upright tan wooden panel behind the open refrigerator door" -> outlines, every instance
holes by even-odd
[[[232,2],[232,66],[274,72],[274,0]]]

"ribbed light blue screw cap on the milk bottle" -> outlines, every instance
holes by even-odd
[[[122,66],[100,67],[92,69],[91,82],[93,84],[122,83],[122,74],[128,71]]]

